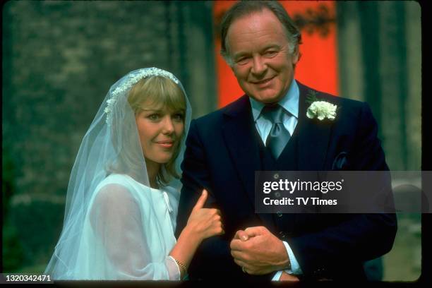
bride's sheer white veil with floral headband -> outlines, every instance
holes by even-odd
[[[68,275],[76,267],[85,215],[101,181],[115,172],[126,174],[140,184],[150,186],[135,114],[128,103],[128,93],[139,80],[151,77],[164,77],[174,81],[186,98],[184,134],[174,161],[175,172],[181,176],[180,164],[191,123],[191,104],[183,85],[172,73],[159,68],[131,71],[109,89],[78,150],[68,183],[64,226],[44,272],[52,275],[53,279],[70,279]],[[168,180],[165,186],[180,188],[178,179],[171,177]]]

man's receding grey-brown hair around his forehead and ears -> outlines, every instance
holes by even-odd
[[[293,54],[298,51],[301,44],[301,33],[294,24],[294,21],[289,18],[287,11],[278,1],[239,1],[234,4],[227,13],[224,14],[221,22],[221,49],[220,54],[224,57],[229,66],[233,66],[234,62],[229,55],[229,47],[227,44],[227,33],[229,26],[243,16],[251,15],[252,13],[262,12],[265,9],[272,11],[280,21],[287,33],[289,53]]]

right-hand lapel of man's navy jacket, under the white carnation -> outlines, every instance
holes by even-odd
[[[298,146],[298,167],[300,171],[319,171],[324,168],[325,156],[327,155],[330,140],[332,123],[320,122],[318,119],[308,119],[306,110],[309,104],[306,103],[308,90],[299,83],[299,122],[296,129],[299,129]]]

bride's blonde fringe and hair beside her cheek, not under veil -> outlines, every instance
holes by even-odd
[[[162,76],[143,78],[133,85],[128,94],[128,103],[135,115],[142,111],[143,102],[155,109],[167,107],[169,110],[183,111],[186,114],[186,97],[183,90],[173,80]],[[181,135],[181,138],[183,137],[184,135]],[[181,143],[181,138],[179,143]],[[162,165],[163,169],[160,169],[157,174],[157,180],[162,185],[168,184],[170,176],[180,178],[174,165],[179,150],[180,145],[177,145],[172,158]]]

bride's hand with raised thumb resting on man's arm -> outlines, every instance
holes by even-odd
[[[208,192],[204,189],[200,198],[193,207],[189,216],[186,227],[190,228],[193,233],[196,233],[200,239],[204,239],[224,234],[222,227],[220,210],[203,208],[205,200],[207,200]]]

